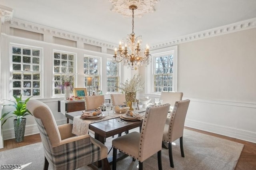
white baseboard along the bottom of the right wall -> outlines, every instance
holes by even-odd
[[[230,127],[224,127],[220,125],[214,125],[214,124],[195,121],[191,119],[186,119],[185,126],[256,143],[255,132],[245,131],[237,128],[235,129]]]

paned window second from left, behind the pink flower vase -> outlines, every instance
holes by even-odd
[[[65,81],[70,82],[70,89],[74,87],[74,57],[72,53],[54,52],[54,95],[64,94]]]

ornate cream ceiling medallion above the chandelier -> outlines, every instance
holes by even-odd
[[[131,5],[136,5],[137,9],[134,11],[134,16],[141,18],[142,15],[155,12],[154,6],[156,3],[158,3],[160,0],[109,0],[113,6],[111,11],[117,12],[118,14],[121,14],[124,17],[130,17],[132,16],[131,11],[129,10],[129,7]]]

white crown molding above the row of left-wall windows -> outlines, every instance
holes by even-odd
[[[18,29],[22,29],[22,30],[27,30],[27,31],[31,31],[31,32],[36,32],[36,33],[40,33],[40,34],[48,34],[51,36],[56,36],[59,38],[65,38],[68,40],[73,40],[73,41],[82,41],[84,43],[88,43],[91,45],[96,45],[96,46],[101,46],[101,47],[106,47],[106,48],[110,48],[110,49],[114,49],[114,47],[116,46],[116,44],[113,43],[108,43],[108,42],[103,42],[94,38],[89,38],[86,36],[81,36],[78,34],[73,34],[70,32],[65,32],[62,30],[58,30],[55,28],[50,28],[50,27],[46,27],[46,26],[42,26],[39,24],[35,24],[32,22],[27,22],[24,20],[19,20],[19,19],[12,19],[9,22],[4,23],[12,28],[18,28]]]

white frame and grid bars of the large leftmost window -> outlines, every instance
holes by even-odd
[[[13,47],[18,47],[18,48],[21,48],[21,54],[14,54],[14,53],[12,53],[12,48]],[[23,54],[23,50],[22,49],[31,49],[31,53],[30,53],[30,55],[25,55],[25,54]],[[40,53],[39,53],[39,56],[34,56],[34,57],[38,57],[40,60],[40,62],[39,62],[39,64],[36,64],[36,63],[33,63],[33,49],[34,50],[39,50],[40,51]],[[21,70],[13,70],[13,64],[15,64],[15,62],[13,62],[12,61],[12,56],[13,55],[20,55],[21,56],[21,62],[20,62],[20,64],[22,65],[21,66]],[[30,61],[30,63],[24,63],[23,62],[23,57],[22,56],[24,56],[24,57],[26,57],[26,56],[31,56],[31,61]],[[30,67],[30,70],[29,71],[25,71],[25,70],[23,70],[23,66],[24,65],[30,65],[31,67]],[[32,67],[33,67],[33,65],[38,65],[39,66],[39,71],[33,71],[33,69],[32,69]],[[20,88],[18,88],[18,87],[13,87],[13,82],[14,82],[14,80],[13,80],[13,74],[14,73],[20,73],[21,74],[21,79],[20,79],[20,81],[21,81],[21,87]],[[31,81],[31,85],[30,85],[30,87],[28,87],[28,88],[26,88],[26,87],[22,87],[23,86],[23,83],[24,83],[24,81],[26,80],[26,79],[23,79],[23,74],[24,73],[31,73],[31,79],[30,79],[30,81]],[[35,95],[35,96],[33,96],[33,73],[38,73],[38,74],[40,74],[40,78],[39,78],[39,80],[37,80],[36,79],[36,81],[39,81],[40,82],[40,87],[38,87],[38,88],[36,88],[36,89],[39,89],[40,90],[40,95]],[[14,43],[11,43],[10,44],[10,99],[14,99],[14,97],[13,97],[13,90],[14,89],[17,89],[17,90],[21,90],[21,93],[22,93],[22,98],[23,99],[26,99],[26,98],[28,98],[28,97],[31,97],[31,96],[33,96],[33,99],[37,99],[37,98],[42,98],[43,97],[43,94],[44,94],[44,91],[43,91],[43,80],[44,79],[44,77],[43,77],[43,48],[40,48],[40,47],[34,47],[34,46],[31,46],[31,45],[21,45],[21,44],[14,44]],[[28,96],[28,95],[25,95],[24,96],[24,89],[31,89],[31,93],[30,93],[30,96]]]

